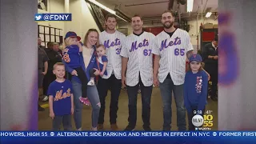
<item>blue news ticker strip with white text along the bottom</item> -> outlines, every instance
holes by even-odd
[[[1,137],[256,137],[256,131],[0,131]]]

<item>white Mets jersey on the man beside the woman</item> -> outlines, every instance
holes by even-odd
[[[115,78],[121,79],[122,58],[120,52],[124,38],[126,35],[118,30],[115,30],[114,34],[109,34],[106,31],[99,34],[99,42],[106,47],[106,57],[108,58],[107,75],[103,75],[102,78],[107,79],[114,74]]]

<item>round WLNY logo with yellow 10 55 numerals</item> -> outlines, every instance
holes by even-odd
[[[199,115],[196,114],[194,115],[194,117],[192,118],[192,124],[196,127],[212,127],[214,126],[214,121],[213,121],[214,117],[212,114],[207,114],[207,115]]]

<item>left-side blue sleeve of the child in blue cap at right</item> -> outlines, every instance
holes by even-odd
[[[189,90],[189,86],[188,86],[189,78],[188,77],[189,77],[189,72],[187,72],[186,75],[185,75],[183,95],[184,95],[184,106],[186,107],[186,111],[191,114],[193,111],[191,109],[190,101],[189,101],[189,93],[188,93],[188,90]]]

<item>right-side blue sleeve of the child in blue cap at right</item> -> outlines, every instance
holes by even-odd
[[[198,110],[203,110],[206,106],[207,91],[208,91],[208,76],[204,71],[202,71],[202,90],[201,90],[200,100],[198,103]]]

